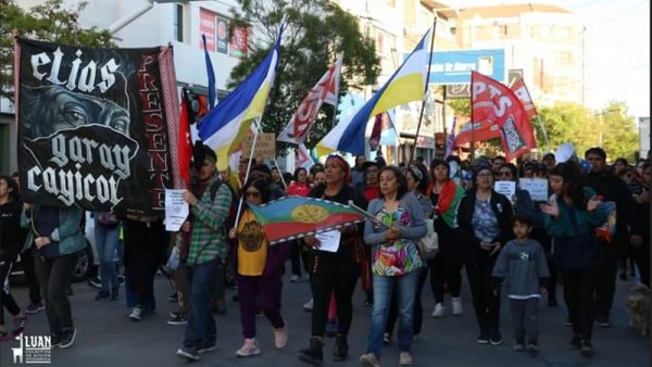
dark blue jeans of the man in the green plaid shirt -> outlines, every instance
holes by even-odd
[[[184,347],[197,351],[215,344],[216,330],[213,319],[213,293],[217,262],[210,261],[190,267],[190,307],[184,334]]]

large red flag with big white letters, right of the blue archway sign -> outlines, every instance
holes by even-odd
[[[500,127],[507,161],[537,147],[532,125],[516,94],[480,73],[471,72],[472,121]]]

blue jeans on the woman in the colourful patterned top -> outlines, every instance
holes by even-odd
[[[411,271],[402,277],[381,277],[374,274],[374,308],[367,340],[367,353],[380,358],[383,333],[389,313],[392,288],[397,288],[399,306],[398,345],[400,352],[410,352],[413,339],[414,296],[419,271]]]

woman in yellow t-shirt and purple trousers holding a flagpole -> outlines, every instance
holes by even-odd
[[[246,205],[237,228],[228,237],[237,241],[236,270],[240,324],[244,343],[236,351],[241,357],[261,354],[255,340],[256,303],[274,328],[274,345],[278,349],[288,342],[286,322],[280,316],[284,263],[289,257],[288,242],[268,245],[265,233],[248,205],[262,205],[269,200],[269,184],[265,179],[249,181],[242,188]]]

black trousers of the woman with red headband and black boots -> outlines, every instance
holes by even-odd
[[[335,294],[337,304],[338,333],[347,336],[353,319],[353,291],[358,282],[358,265],[342,274],[311,274],[310,284],[313,293],[312,336],[323,337],[328,318],[330,294]]]

